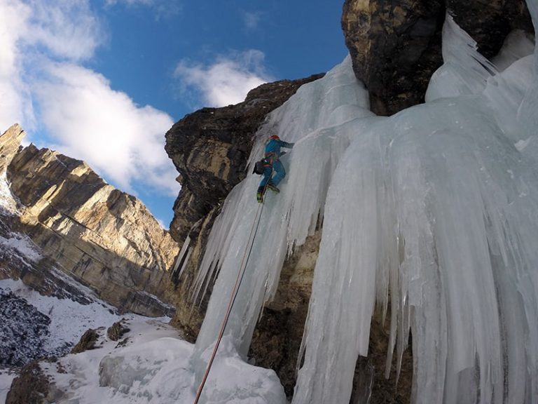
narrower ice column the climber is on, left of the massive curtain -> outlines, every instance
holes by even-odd
[[[360,116],[372,116],[367,107],[368,94],[354,78],[350,58],[346,58],[323,79],[299,88],[261,128],[254,153],[261,152],[262,142],[275,132],[296,145],[282,157],[287,177],[280,185],[280,194],[268,191],[265,196],[258,233],[226,328],[225,334],[233,337],[241,355],[247,354],[263,303],[275,294],[287,254],[315,229],[333,170],[353,135],[346,125]],[[251,161],[260,157],[251,157]],[[214,343],[242,257],[250,249],[249,231],[259,208],[255,198],[259,180],[249,175],[233,189],[209,236],[195,294],[199,296],[207,282],[219,275],[195,358]],[[200,359],[195,362],[200,374],[205,363]]]

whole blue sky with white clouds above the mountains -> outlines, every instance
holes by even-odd
[[[175,121],[345,58],[343,0],[0,0],[0,132],[86,161],[165,227]]]

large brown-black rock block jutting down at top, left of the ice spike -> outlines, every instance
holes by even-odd
[[[373,112],[390,115],[422,102],[442,64],[444,13],[441,0],[345,1],[345,43]]]

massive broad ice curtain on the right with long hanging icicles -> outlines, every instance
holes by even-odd
[[[385,288],[398,356],[413,332],[414,403],[535,400],[528,170],[480,96],[358,128],[329,187],[294,404],[349,400]]]

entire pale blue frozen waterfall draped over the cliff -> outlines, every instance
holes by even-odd
[[[412,332],[413,403],[538,403],[538,53],[525,36],[507,43],[495,67],[448,17],[425,104],[373,116],[347,58],[261,129],[252,160],[269,129],[296,147],[226,335],[246,356],[287,254],[322,218],[294,404],[349,401],[373,309],[389,299],[387,363]],[[258,180],[233,189],[209,238],[195,295],[218,278],[199,355],[219,332]]]

